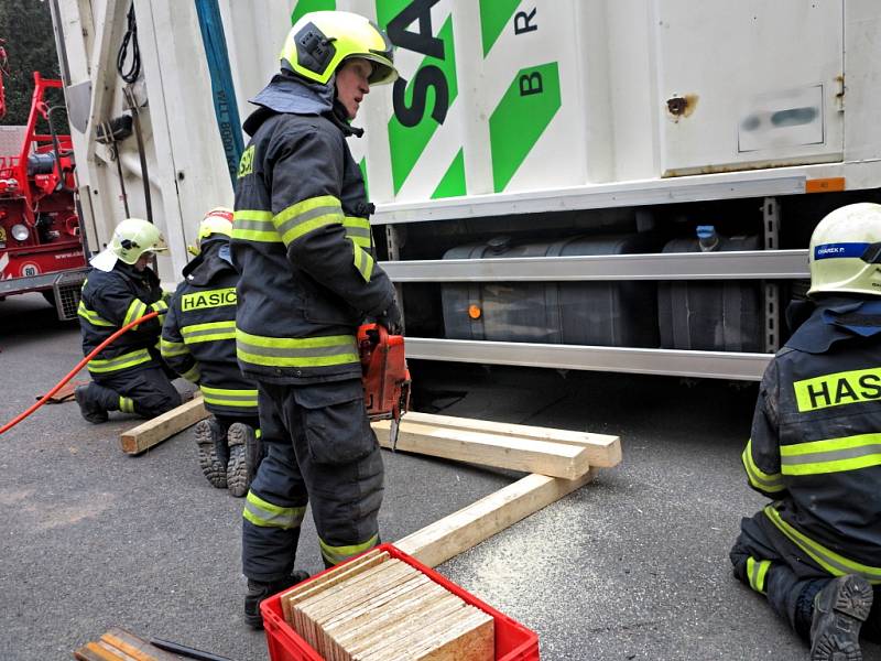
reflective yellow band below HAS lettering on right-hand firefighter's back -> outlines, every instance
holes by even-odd
[[[783,475],[818,475],[881,465],[881,433],[781,445]]]

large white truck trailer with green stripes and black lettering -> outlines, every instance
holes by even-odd
[[[758,380],[829,210],[879,202],[873,0],[52,0],[83,221],[186,263],[293,22],[401,78],[350,139],[412,359]]]

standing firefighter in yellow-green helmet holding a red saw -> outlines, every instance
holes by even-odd
[[[232,258],[242,372],[258,382],[267,456],[246,500],[246,621],[294,572],[312,503],[326,566],[379,543],[383,467],[363,403],[356,333],[395,327],[394,288],[374,262],[361,172],[346,138],[371,85],[396,77],[388,37],[348,12],[305,14],[282,71],[251,102],[236,189]]]

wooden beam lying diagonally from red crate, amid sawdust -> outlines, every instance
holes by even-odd
[[[545,475],[526,477],[444,517],[394,543],[401,551],[434,567],[497,532],[525,519],[590,481],[596,468],[573,480]]]

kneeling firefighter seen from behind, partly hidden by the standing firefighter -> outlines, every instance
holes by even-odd
[[[202,472],[232,496],[248,491],[262,458],[257,384],[241,376],[236,359],[236,284],[229,238],[232,209],[211,209],[199,223],[196,256],[168,305],[162,357],[202,390],[211,418],[196,426]]]

